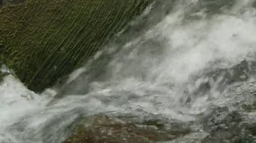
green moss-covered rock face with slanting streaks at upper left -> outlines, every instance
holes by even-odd
[[[0,9],[1,60],[29,89],[71,73],[152,0],[27,0]]]

